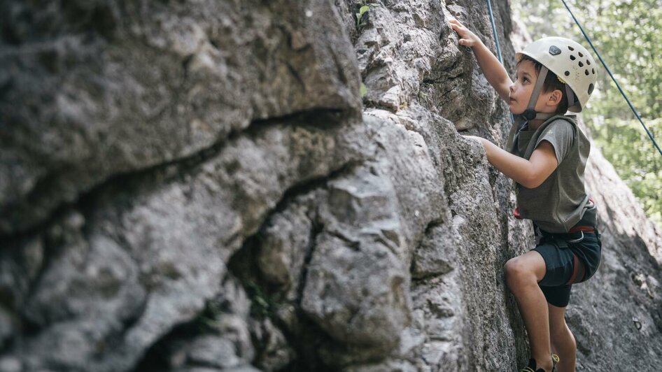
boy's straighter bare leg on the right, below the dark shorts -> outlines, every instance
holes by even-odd
[[[547,303],[549,310],[549,341],[551,350],[561,358],[556,364],[558,372],[575,372],[577,361],[577,343],[568,324],[565,324],[565,308],[558,308]]]

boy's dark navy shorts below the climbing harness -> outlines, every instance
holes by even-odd
[[[533,250],[542,255],[547,266],[538,285],[547,302],[565,308],[572,285],[588,280],[598,270],[602,248],[600,234],[548,234],[542,231],[538,237],[540,243]],[[581,241],[568,242],[573,239]]]

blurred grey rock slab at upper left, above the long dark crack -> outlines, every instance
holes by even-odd
[[[255,120],[358,113],[337,10],[311,1],[4,1],[0,234]]]

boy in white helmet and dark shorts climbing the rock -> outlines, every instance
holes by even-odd
[[[538,241],[504,266],[531,348],[521,371],[575,371],[577,345],[565,324],[565,308],[572,284],[598,269],[601,243],[596,206],[584,188],[590,144],[565,113],[580,112],[589,100],[595,61],[575,41],[542,38],[516,53],[513,82],[472,31],[457,20],[449,23],[516,117],[507,151],[485,138],[467,137],[480,141],[488,162],[515,181],[516,217],[533,220]]]

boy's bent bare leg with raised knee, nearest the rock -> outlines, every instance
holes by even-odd
[[[534,250],[509,259],[504,268],[506,283],[519,306],[537,368],[551,371],[547,300],[538,287],[545,270],[544,259]]]

